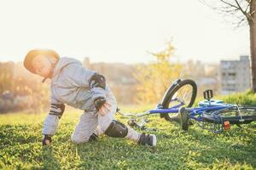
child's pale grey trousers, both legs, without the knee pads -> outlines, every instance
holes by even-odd
[[[108,129],[110,123],[114,120],[114,115],[117,109],[116,99],[111,92],[107,94],[107,102],[111,105],[111,109],[108,114],[105,114],[104,116],[101,116],[96,111],[84,111],[71,136],[73,143],[81,144],[88,142],[92,133],[99,136]],[[128,133],[125,138],[137,141],[139,135],[140,134],[135,130],[128,127]]]

